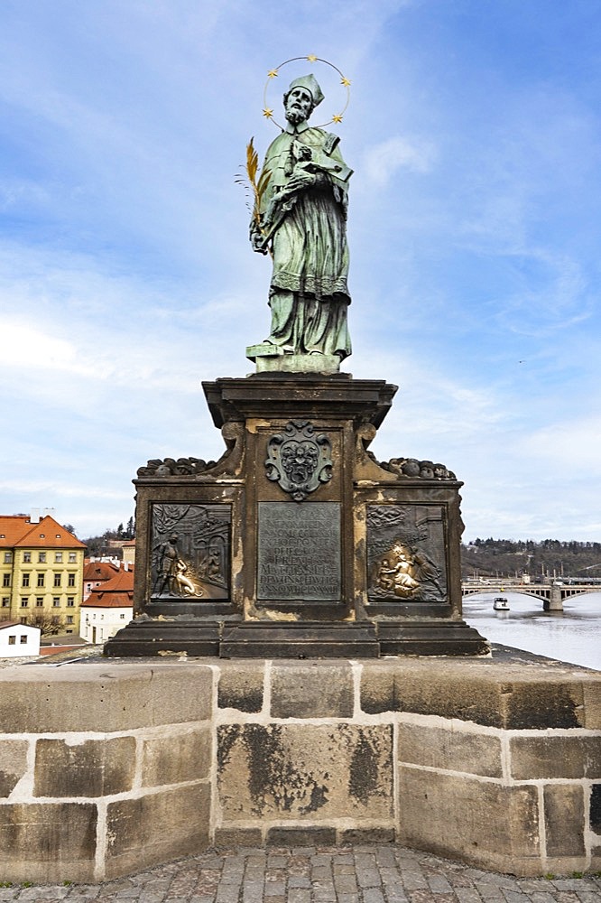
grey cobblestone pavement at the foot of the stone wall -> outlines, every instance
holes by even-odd
[[[65,876],[66,878],[68,876]],[[513,878],[392,845],[208,851],[100,885],[0,887],[0,901],[599,903],[601,874]]]

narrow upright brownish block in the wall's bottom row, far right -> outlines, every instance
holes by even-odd
[[[584,793],[581,786],[546,785],[544,816],[548,856],[584,855]]]

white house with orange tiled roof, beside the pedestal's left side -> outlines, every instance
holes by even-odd
[[[88,643],[106,643],[134,617],[134,571],[120,571],[93,587],[81,603],[79,636]]]

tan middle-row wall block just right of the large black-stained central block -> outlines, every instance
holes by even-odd
[[[446,768],[472,775],[502,777],[501,740],[489,734],[428,727],[398,726],[397,759],[428,768]]]

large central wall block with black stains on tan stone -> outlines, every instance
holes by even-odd
[[[217,729],[219,799],[228,820],[387,819],[392,728],[230,724]]]

